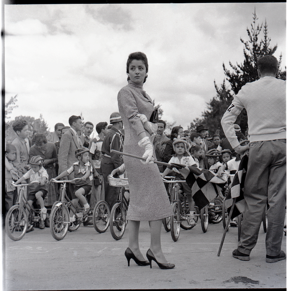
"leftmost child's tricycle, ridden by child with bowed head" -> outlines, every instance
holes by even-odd
[[[31,230],[35,223],[39,222],[42,218],[40,208],[34,208],[33,205],[30,208],[27,198],[23,195],[24,187],[34,183],[39,184],[37,181],[17,185],[11,183],[13,187],[21,187],[16,204],[8,210],[5,218],[6,233],[12,240],[17,241],[22,239],[25,233]],[[27,212],[29,213],[29,217],[27,216]],[[47,217],[49,217],[48,214]]]

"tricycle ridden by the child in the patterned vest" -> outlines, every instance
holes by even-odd
[[[83,215],[83,207],[78,204],[76,208],[72,206],[72,201],[66,194],[66,183],[71,183],[80,178],[74,178],[71,181],[68,180],[55,180],[51,179],[54,183],[62,183],[60,191],[59,201],[54,203],[50,214],[50,231],[52,237],[56,240],[63,239],[67,231],[70,232],[77,230],[80,227],[80,223],[86,221],[88,218],[92,217],[93,226],[99,233],[103,233],[109,227],[110,220],[110,210],[108,204],[101,200],[99,201],[94,209],[93,213],[91,211],[88,214]],[[75,221],[70,223],[70,212],[73,212],[73,217]]]

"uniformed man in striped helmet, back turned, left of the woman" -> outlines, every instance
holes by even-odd
[[[123,150],[122,133],[120,131],[123,128],[123,122],[119,112],[113,112],[110,115],[110,123],[112,124],[112,128],[109,129],[102,143],[101,151],[103,158],[100,168],[104,178],[105,201],[111,210],[117,200],[118,188],[109,185],[108,175],[123,164],[122,156],[111,152],[112,149],[118,151]],[[117,174],[115,175],[117,177]]]

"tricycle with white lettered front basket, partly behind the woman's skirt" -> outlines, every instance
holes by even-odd
[[[114,178],[108,175],[108,182],[111,186],[119,187],[117,202],[113,205],[110,212],[110,231],[114,239],[119,240],[126,228],[126,213],[129,200],[124,196],[125,186],[128,186],[127,178]]]

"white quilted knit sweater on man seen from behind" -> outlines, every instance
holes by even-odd
[[[266,76],[242,86],[221,120],[232,148],[239,145],[233,123],[243,108],[250,142],[286,139],[286,81]]]

